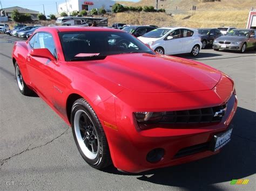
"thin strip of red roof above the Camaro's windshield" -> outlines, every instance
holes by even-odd
[[[53,32],[53,30],[58,32],[74,32],[74,31],[118,31],[118,29],[110,29],[104,27],[92,27],[92,26],[46,26],[46,27],[39,27],[37,31],[48,31]],[[124,31],[121,31],[124,32]]]

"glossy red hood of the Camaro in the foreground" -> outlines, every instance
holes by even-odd
[[[138,93],[210,90],[221,77],[218,70],[198,62],[146,53],[111,55],[75,65],[94,73],[97,79]]]

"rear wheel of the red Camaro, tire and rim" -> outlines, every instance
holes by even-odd
[[[31,90],[26,83],[23,81],[23,77],[22,77],[22,73],[21,70],[19,69],[19,66],[17,64],[17,62],[15,62],[15,76],[16,76],[16,81],[18,84],[18,88],[19,91],[23,94],[23,95],[31,95],[33,93],[33,90]]]

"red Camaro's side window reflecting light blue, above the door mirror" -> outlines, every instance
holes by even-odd
[[[33,48],[47,48],[57,58],[56,47],[50,33],[38,32]]]

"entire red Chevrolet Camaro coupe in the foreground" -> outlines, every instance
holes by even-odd
[[[125,172],[220,151],[237,109],[233,80],[99,27],[41,27],[14,45],[19,91],[37,93],[71,125],[84,160]]]

